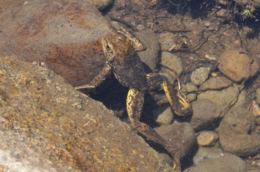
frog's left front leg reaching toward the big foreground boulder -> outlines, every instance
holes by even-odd
[[[108,78],[112,74],[112,67],[109,64],[106,64],[106,66],[103,68],[102,72],[97,75],[90,83],[75,87],[75,89],[90,89],[90,88],[95,88],[98,85],[101,84],[106,78]]]

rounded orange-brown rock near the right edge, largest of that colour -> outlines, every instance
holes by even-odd
[[[238,50],[227,50],[218,59],[219,70],[235,82],[252,77],[259,69],[259,63]]]

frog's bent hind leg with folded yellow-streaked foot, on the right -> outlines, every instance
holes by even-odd
[[[178,116],[185,116],[192,113],[191,102],[180,90],[173,89],[167,77],[157,73],[146,75],[146,87],[151,91],[163,83],[165,94],[173,110]]]

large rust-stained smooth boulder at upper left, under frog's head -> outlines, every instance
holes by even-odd
[[[45,62],[74,87],[102,71],[106,57],[99,39],[116,32],[93,5],[76,0],[33,1],[5,11],[0,23],[0,56]]]

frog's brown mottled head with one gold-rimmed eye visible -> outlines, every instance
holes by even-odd
[[[101,45],[109,63],[113,63],[116,59],[125,58],[131,48],[128,39],[119,34],[104,35],[101,39]]]

